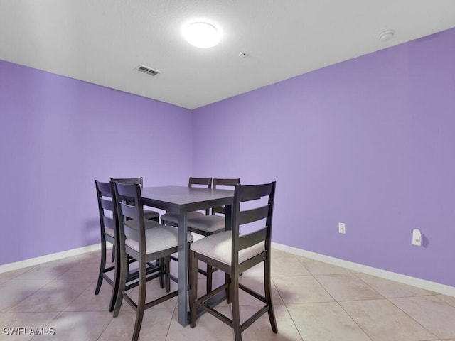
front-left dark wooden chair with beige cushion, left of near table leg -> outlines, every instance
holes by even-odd
[[[146,223],[149,220],[144,218],[144,205],[141,197],[141,186],[139,184],[122,184],[117,182],[114,183],[114,192],[117,197],[121,264],[119,295],[117,295],[114,306],[114,317],[119,315],[122,301],[127,301],[133,310],[136,311],[132,340],[137,341],[141,330],[142,318],[144,317],[144,310],[177,296],[178,291],[170,292],[169,258],[178,249],[178,229],[161,224],[152,229],[146,229]],[[135,205],[128,205],[127,202],[134,202]],[[193,237],[190,233],[188,233],[187,242],[189,249],[189,244],[193,242]],[[139,296],[137,301],[134,301],[129,296],[128,288],[125,286],[127,279],[125,265],[129,256],[139,262]],[[159,273],[153,274],[150,278],[165,275],[166,294],[153,301],[146,302],[146,265],[158,259],[164,259],[165,265]],[[156,313],[159,313],[158,310]]]

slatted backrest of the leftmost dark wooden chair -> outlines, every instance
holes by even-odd
[[[118,217],[112,183],[101,183],[100,181],[95,180],[95,187],[97,189],[102,237],[104,237],[105,229],[111,229],[114,236],[117,236]]]

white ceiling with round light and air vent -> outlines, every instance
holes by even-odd
[[[194,109],[452,27],[454,0],[0,0],[0,60]]]

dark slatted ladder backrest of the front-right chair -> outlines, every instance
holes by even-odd
[[[270,251],[272,238],[272,215],[276,182],[261,185],[235,185],[232,205],[232,265],[238,264],[238,253],[242,249],[264,242],[264,252],[249,260],[251,264],[263,261]],[[268,197],[264,204],[262,197]],[[240,204],[246,202],[242,208]],[[255,227],[255,231],[239,234],[240,226],[264,221],[264,227]],[[256,225],[255,225],[256,226]],[[242,271],[242,269],[237,269]]]

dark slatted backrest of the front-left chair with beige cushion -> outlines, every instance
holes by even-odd
[[[134,239],[139,241],[139,252],[145,251],[144,205],[141,185],[139,183],[113,183],[117,202],[120,244],[124,245],[126,235],[134,236]],[[136,205],[128,205],[128,202],[135,202]]]

